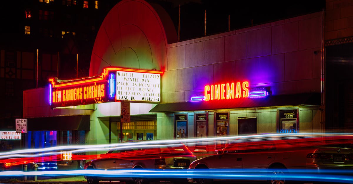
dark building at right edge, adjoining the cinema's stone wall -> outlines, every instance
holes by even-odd
[[[353,2],[326,1],[325,125],[353,129]]]

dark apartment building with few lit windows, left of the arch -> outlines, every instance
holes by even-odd
[[[22,117],[23,91],[48,78],[88,76],[92,47],[103,18],[118,1],[4,1],[0,26],[0,129]],[[32,102],[36,103],[36,102]]]

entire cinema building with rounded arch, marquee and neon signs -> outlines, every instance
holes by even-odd
[[[177,38],[161,8],[119,2],[98,31],[89,77],[24,91],[24,147],[325,128],[323,12]]]

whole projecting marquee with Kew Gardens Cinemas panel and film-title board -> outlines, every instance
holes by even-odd
[[[63,82],[49,79],[49,104],[57,108],[121,100],[160,102],[162,73],[108,67],[94,77]]]

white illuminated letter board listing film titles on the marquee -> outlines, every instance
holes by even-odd
[[[161,74],[117,71],[116,100],[161,102]]]

